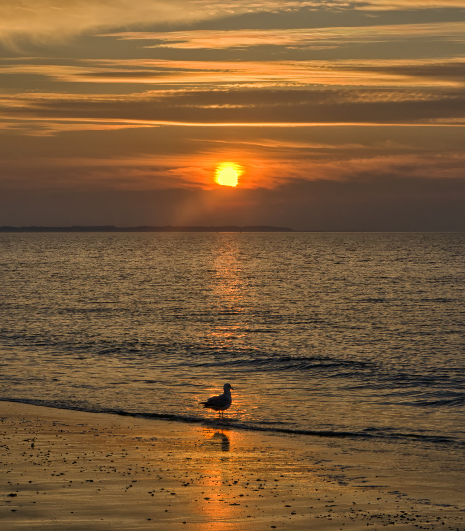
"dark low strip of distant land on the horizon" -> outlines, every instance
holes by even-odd
[[[150,225],[140,225],[138,227],[115,227],[114,225],[92,225],[72,227],[0,227],[0,232],[294,232],[288,227],[270,227],[268,225],[251,225],[238,227],[236,225],[226,225],[222,227],[193,227],[193,226],[171,226],[152,227]]]

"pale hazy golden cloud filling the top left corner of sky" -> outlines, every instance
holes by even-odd
[[[331,4],[344,5],[338,0]],[[325,5],[324,0],[2,0],[0,41],[14,47],[24,38],[49,43],[130,24],[188,23],[240,13]]]

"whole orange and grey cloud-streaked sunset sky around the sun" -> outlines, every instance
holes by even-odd
[[[0,225],[465,230],[464,146],[465,0],[0,4]]]

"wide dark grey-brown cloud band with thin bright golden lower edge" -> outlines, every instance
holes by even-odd
[[[0,108],[5,121],[29,123],[30,134],[71,130],[71,123],[89,130],[91,124],[95,129],[163,124],[465,125],[463,90],[180,90],[108,96],[30,93],[0,96]],[[27,126],[18,131],[27,132]]]

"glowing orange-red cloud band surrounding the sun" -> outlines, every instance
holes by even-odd
[[[463,153],[361,155],[335,157],[325,152],[316,156],[254,156],[244,150],[224,149],[192,155],[120,156],[107,158],[31,157],[2,162],[0,183],[5,190],[35,189],[37,176],[44,189],[54,190],[160,190],[188,188],[211,190],[214,170],[224,160],[238,160],[244,168],[243,189],[274,189],[293,181],[371,182],[379,175],[398,178],[463,179]],[[226,158],[225,158],[226,156]],[[31,169],[34,171],[31,172]]]

